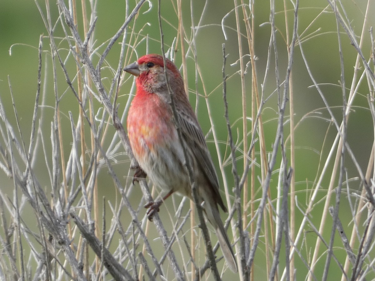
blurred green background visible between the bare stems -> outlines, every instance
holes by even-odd
[[[270,7],[267,1],[255,1],[254,15],[255,15],[255,52],[257,55],[257,74],[258,81],[263,81],[264,71],[266,68],[267,51],[270,39],[270,24],[269,14]],[[278,32],[276,34],[276,40],[278,44],[278,57],[279,57],[279,77],[283,81],[285,78],[286,63],[288,60],[287,52],[285,48],[285,18],[284,18],[284,5],[282,1],[277,1],[276,3],[276,26]],[[45,4],[42,1],[38,1],[42,9],[44,9]],[[149,40],[143,40],[139,46],[136,48],[138,56],[145,54],[147,49],[149,53],[160,53],[160,32],[157,19],[157,2],[152,1],[153,7],[148,13],[140,13],[136,22],[136,30],[139,30],[143,25],[144,27],[140,31],[141,36],[148,36]],[[236,34],[236,21],[233,7],[234,4],[231,1],[208,1],[207,7],[205,9],[205,14],[202,16],[201,27],[196,36],[196,48],[197,48],[197,61],[201,67],[204,84],[207,92],[210,93],[209,103],[211,111],[213,114],[213,119],[215,120],[215,126],[217,130],[217,136],[223,142],[227,140],[227,131],[225,126],[225,120],[223,118],[223,102],[222,102],[222,88],[220,83],[222,81],[222,43],[225,43],[226,53],[228,54],[226,72],[228,75],[233,75],[228,80],[228,100],[229,100],[229,118],[233,125],[233,132],[235,134],[235,139],[242,139],[242,112],[241,112],[241,84],[240,76],[236,72],[239,70],[239,54],[238,54],[238,40]],[[348,18],[351,20],[351,25],[354,29],[354,33],[358,36],[362,30],[362,23],[364,18],[364,13],[366,9],[366,1],[343,1],[346,12],[348,13]],[[54,2],[50,3],[52,11],[52,22],[57,21],[58,10]],[[205,5],[204,1],[193,1],[193,18],[195,25],[198,24],[200,16],[202,14],[202,9]],[[131,8],[134,3],[131,2]],[[318,83],[322,83],[321,89],[324,91],[324,95],[328,100],[330,106],[333,107],[333,112],[335,117],[339,122],[342,120],[342,92],[339,87],[340,80],[340,59],[338,53],[338,38],[336,33],[336,20],[332,12],[325,12],[320,15],[317,19],[317,15],[327,6],[326,1],[320,0],[305,0],[301,1],[299,9],[299,33],[301,34],[312,21],[313,24],[309,26],[308,30],[305,31],[302,37],[314,33],[315,36],[310,37],[309,40],[303,43],[303,49],[305,55],[309,62],[309,67],[314,75],[314,78]],[[375,5],[371,7],[369,14],[374,15]],[[148,9],[147,3],[142,7],[141,11],[145,12]],[[293,7],[290,5],[288,7],[289,15],[289,28],[291,33],[291,27],[293,24]],[[118,28],[124,22],[125,14],[125,2],[124,1],[98,1],[97,8],[98,20],[96,22],[95,28],[95,38],[96,46],[101,45],[106,40],[110,39]],[[164,41],[165,44],[170,46],[174,37],[176,35],[175,27],[178,24],[178,18],[172,11],[172,6],[170,1],[162,1],[162,16],[165,19],[163,21],[163,31],[164,31]],[[225,18],[225,29],[227,40],[225,40],[221,28],[222,18],[228,13],[229,15]],[[190,1],[183,2],[183,19],[184,28],[188,34],[191,32],[190,24]],[[315,20],[314,20],[315,19]],[[168,22],[166,22],[168,21]],[[146,25],[146,22],[149,25]],[[369,19],[369,24],[366,26],[366,30],[374,25],[375,20],[372,17]],[[243,24],[243,22],[241,23]],[[130,24],[132,25],[132,23]],[[81,27],[80,27],[81,28]],[[245,34],[245,28],[242,25],[242,33]],[[341,31],[342,28],[340,28]],[[315,32],[316,31],[316,32]],[[367,32],[367,31],[366,31]],[[30,135],[30,120],[32,117],[35,94],[37,89],[37,68],[38,68],[38,43],[39,36],[41,34],[47,35],[45,26],[43,24],[42,18],[40,16],[39,10],[37,9],[34,1],[5,1],[0,0],[0,98],[2,102],[6,105],[6,113],[10,120],[15,121],[12,102],[10,97],[10,90],[8,85],[8,76],[12,85],[13,95],[15,97],[15,105],[20,117],[21,130],[24,132],[24,139],[28,143],[28,138]],[[55,30],[54,35],[56,37],[64,37],[64,33],[61,27]],[[291,34],[290,34],[291,35]],[[350,88],[351,79],[353,77],[354,63],[356,60],[356,51],[353,46],[350,45],[350,41],[347,36],[341,34],[342,49],[345,62],[345,82],[346,87]],[[62,38],[63,39],[63,38]],[[247,42],[245,37],[242,38],[242,45],[245,54],[248,54]],[[359,39],[359,38],[358,38]],[[58,40],[56,40],[58,41]],[[62,40],[63,41],[63,40]],[[105,44],[106,45],[106,44]],[[66,48],[66,43],[62,42],[62,48]],[[47,95],[45,100],[45,105],[52,106],[52,108],[45,109],[44,119],[45,124],[43,124],[46,132],[49,132],[51,118],[53,116],[54,110],[54,93],[52,85],[52,69],[51,67],[45,68],[45,62],[50,60],[50,48],[48,46],[48,38],[43,40],[43,69],[42,76],[46,70],[47,83],[42,80],[42,87],[46,88]],[[103,47],[98,49],[99,54],[104,50]],[[325,157],[329,152],[330,145],[336,136],[336,129],[329,123],[330,117],[327,110],[324,108],[324,104],[315,90],[311,87],[312,81],[308,76],[305,64],[303,63],[302,57],[300,55],[300,49],[297,46],[295,49],[294,64],[293,64],[293,88],[294,88],[294,112],[295,112],[295,123],[299,121],[299,126],[296,129],[296,167],[294,167],[296,175],[296,189],[299,190],[297,197],[300,205],[304,208],[308,203],[309,189],[313,186],[313,181],[315,177],[321,171],[321,165],[324,163]],[[369,57],[371,50],[371,40],[369,33],[365,36],[363,42],[363,54],[366,58]],[[107,56],[108,64],[115,66],[118,61],[120,52],[120,44],[116,43],[111,49],[109,55]],[[181,64],[181,54],[180,50],[177,50],[176,64],[179,66]],[[273,58],[273,56],[272,56]],[[97,58],[94,59],[97,61]],[[133,56],[129,61],[136,60]],[[245,61],[249,62],[249,58],[245,57]],[[234,64],[236,63],[237,64]],[[189,72],[189,88],[195,90],[195,75],[194,75],[194,64],[193,60],[190,58],[187,60],[188,66],[191,68]],[[234,64],[230,66],[229,64]],[[362,64],[361,64],[362,66]],[[68,65],[68,69],[71,67],[75,71],[75,64],[71,62]],[[265,87],[265,94],[269,96],[275,90],[275,64],[274,61],[270,66],[270,77],[267,80]],[[107,85],[110,85],[113,74],[111,71],[103,70],[104,79],[107,79]],[[78,104],[68,89],[67,85],[64,84],[64,77],[60,69],[58,69],[57,76],[60,79],[58,84],[58,91],[60,95],[66,91],[63,96],[60,110],[65,115],[63,117],[64,130],[69,132],[70,125],[67,118],[68,112],[72,111],[74,116],[78,114]],[[246,89],[249,93],[248,96],[248,110],[249,116],[251,116],[251,70],[246,73]],[[43,79],[43,77],[42,77]],[[356,97],[353,107],[353,112],[351,112],[349,125],[348,125],[348,142],[360,163],[363,170],[366,169],[369,154],[371,152],[372,140],[373,140],[373,126],[371,114],[368,110],[367,95],[368,88],[364,85],[359,88],[359,94]],[[127,86],[129,85],[129,88]],[[128,92],[130,89],[131,81],[126,82],[126,84],[121,88],[121,96],[118,102],[121,104],[120,108],[123,108],[124,104],[128,99]],[[260,83],[259,83],[260,86]],[[108,90],[108,89],[107,89]],[[198,82],[198,89],[200,94],[202,93],[202,84]],[[349,91],[347,91],[348,94]],[[205,101],[200,98],[199,108],[198,108],[198,118],[201,123],[204,133],[210,130],[210,123],[207,118],[207,108],[205,106]],[[195,104],[195,94],[190,95],[190,100],[192,104]],[[101,106],[96,103],[98,108]],[[98,109],[96,108],[96,110]],[[288,113],[287,113],[288,115]],[[275,140],[275,132],[277,126],[277,96],[276,94],[267,102],[266,107],[263,112],[264,129],[266,133],[266,145],[267,151],[272,150],[272,144]],[[286,118],[287,121],[287,118]],[[15,123],[13,123],[15,124]],[[288,128],[289,123],[285,126],[285,135],[289,133]],[[251,121],[249,121],[249,128],[251,127]],[[237,129],[239,129],[239,134],[237,136]],[[327,133],[327,134],[326,134]],[[46,133],[45,137],[48,137]],[[324,139],[326,138],[326,143],[324,144]],[[65,146],[69,148],[71,138],[66,139]],[[208,145],[210,146],[212,154],[216,153],[214,150],[214,145],[212,143],[212,135],[208,135]],[[290,143],[287,143],[290,145]],[[228,157],[228,148],[226,145],[220,146],[222,150],[222,155]],[[69,151],[69,149],[67,150]],[[288,150],[289,152],[289,150]],[[226,154],[225,154],[226,153]],[[66,155],[68,157],[68,155]],[[49,158],[51,156],[48,156]],[[259,155],[257,155],[259,160]],[[320,162],[320,157],[322,161]],[[126,157],[125,157],[126,158]],[[217,162],[217,158],[213,157]],[[280,160],[280,159],[279,159]],[[40,175],[43,175],[45,171],[45,160],[42,154],[38,159],[38,167],[40,167]],[[279,162],[278,162],[279,164]],[[276,165],[276,167],[278,166]],[[217,165],[217,163],[216,163]],[[242,164],[239,164],[240,169],[242,169]],[[345,167],[348,171],[348,178],[353,178],[357,176],[356,169],[351,162],[350,158],[347,157],[345,161]],[[116,164],[116,172],[118,175],[127,176],[128,163]],[[319,170],[318,170],[319,169]],[[226,166],[226,172],[230,177],[231,175],[231,165]],[[6,193],[12,196],[12,181],[7,179],[3,174],[1,176],[0,188],[6,190]],[[325,176],[322,188],[323,190],[327,188],[330,175]],[[39,179],[42,185],[46,186],[48,190],[49,180],[47,176],[45,179]],[[220,178],[221,180],[221,178]],[[124,184],[125,184],[124,180]],[[110,183],[110,184],[108,184]],[[233,184],[233,180],[231,181]],[[99,198],[105,195],[108,200],[115,198],[115,189],[111,185],[112,180],[105,171],[99,175],[99,187],[104,186],[105,188],[99,189]],[[276,197],[275,186],[277,184],[277,175],[273,178],[271,183],[271,191],[273,198]],[[349,182],[349,186],[353,191],[359,190],[360,182],[358,180],[353,180]],[[326,193],[322,193],[321,197]],[[260,193],[258,194],[260,196]],[[352,215],[350,214],[350,209],[347,206],[346,194],[342,196],[342,203],[340,207],[340,217],[344,226],[346,226]],[[140,200],[140,194],[133,194],[133,200],[135,205],[138,204]],[[317,201],[318,202],[318,201]],[[317,203],[323,208],[324,201],[321,200]],[[312,214],[312,221],[316,225],[320,222],[319,206],[315,208],[316,213]],[[299,221],[302,220],[302,215],[297,217],[297,227],[299,226]],[[348,228],[349,229],[349,228]],[[314,232],[309,232],[310,229],[306,229],[306,241],[303,247],[306,247],[306,251],[314,248],[316,235]],[[330,235],[330,227],[327,227],[327,233],[324,237],[328,240]],[[336,246],[342,247],[339,238],[336,238]],[[345,251],[342,252],[341,262],[344,261]],[[263,253],[257,253],[262,256]],[[283,260],[281,259],[281,265],[283,265]],[[323,270],[323,265],[325,258],[321,259],[318,265],[321,265]],[[301,271],[298,268],[301,267]],[[262,263],[257,263],[255,261],[255,268],[258,272],[256,276],[262,276],[265,269]],[[306,276],[306,268],[302,262],[296,262],[297,268],[297,280],[302,280]],[[318,266],[319,268],[319,266]],[[337,280],[335,276],[339,269],[337,266],[333,266],[332,271],[330,271],[330,276]],[[300,274],[300,275],[299,275]],[[317,271],[317,277],[319,279],[320,274]]]

